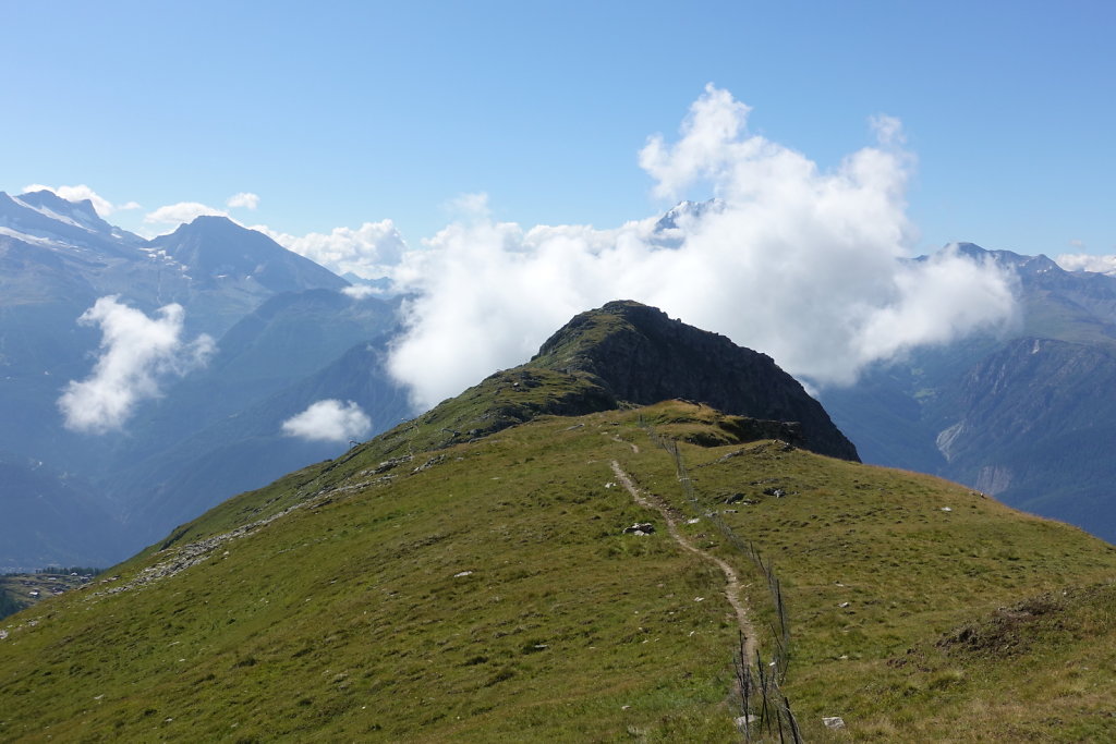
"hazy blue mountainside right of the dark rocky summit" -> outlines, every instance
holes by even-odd
[[[1116,277],[959,250],[1016,274],[1020,325],[915,349],[819,398],[866,462],[934,473],[1116,541]]]

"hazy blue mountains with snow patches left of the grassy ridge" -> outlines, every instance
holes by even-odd
[[[227,218],[145,240],[88,200],[0,192],[0,453],[12,473],[0,503],[12,505],[6,529],[20,537],[0,551],[0,570],[118,560],[237,490],[335,454],[336,443],[281,432],[319,398],[392,400],[376,431],[410,413],[382,360],[338,373],[368,363],[356,350],[385,344],[397,322],[395,305],[348,297],[348,286]],[[125,432],[90,435],[66,429],[57,402],[92,371],[100,334],[77,320],[105,296],[147,316],[177,303],[183,336],[208,334],[218,350],[208,367],[167,379]],[[36,462],[45,465],[26,465]],[[17,490],[29,483],[49,497],[25,499]]]

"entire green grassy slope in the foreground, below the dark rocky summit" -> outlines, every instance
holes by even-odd
[[[681,402],[446,441],[518,394],[479,386],[7,618],[0,738],[740,741],[706,555],[741,576],[763,666],[782,638],[742,545],[779,580],[806,741],[1112,732],[1110,545]]]

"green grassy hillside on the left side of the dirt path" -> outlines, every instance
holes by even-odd
[[[646,516],[605,487],[627,447],[602,417],[570,425],[442,451],[171,578],[18,616],[0,735],[730,741],[719,576],[620,533]]]

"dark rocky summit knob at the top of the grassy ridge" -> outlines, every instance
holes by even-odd
[[[793,422],[802,447],[859,462],[821,404],[771,357],[639,302],[608,302],[576,316],[529,366],[587,375],[617,400],[685,398],[727,414]]]

